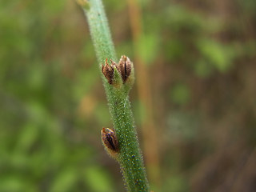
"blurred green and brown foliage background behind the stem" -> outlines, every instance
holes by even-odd
[[[134,61],[154,192],[255,191],[256,2],[103,3],[118,55]],[[125,191],[100,140],[112,123],[82,9],[0,6],[0,191]]]

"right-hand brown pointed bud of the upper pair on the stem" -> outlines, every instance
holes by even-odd
[[[129,78],[132,67],[133,67],[133,63],[130,62],[130,58],[126,57],[125,55],[122,55],[117,68],[119,73],[122,76],[123,83],[125,83],[127,78]]]

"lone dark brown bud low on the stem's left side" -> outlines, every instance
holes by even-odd
[[[110,128],[102,129],[102,143],[111,157],[117,158],[119,152],[118,139],[115,131]]]

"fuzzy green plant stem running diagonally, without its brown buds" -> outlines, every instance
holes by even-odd
[[[83,9],[89,23],[99,67],[101,68],[106,58],[118,62],[101,0],[91,0]],[[120,163],[126,187],[128,191],[133,192],[149,191],[128,92],[124,88],[110,85],[103,74],[102,80],[118,138],[120,152],[117,160]]]

